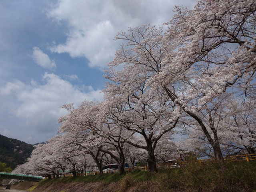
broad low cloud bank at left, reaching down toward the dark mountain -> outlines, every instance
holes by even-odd
[[[103,98],[101,90],[95,90],[92,86],[74,86],[53,73],[45,73],[42,82],[32,80],[25,84],[14,80],[0,87],[0,104],[4,109],[1,116],[10,118],[10,125],[0,126],[0,132],[9,130],[12,133],[18,129],[20,138],[26,142],[42,142],[56,133],[58,118],[67,114],[60,106],[74,103],[77,107],[85,99]]]

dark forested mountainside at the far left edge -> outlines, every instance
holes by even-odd
[[[0,162],[6,163],[12,169],[23,164],[33,149],[32,144],[0,135]]]

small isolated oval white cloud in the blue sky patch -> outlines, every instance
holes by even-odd
[[[36,62],[36,64],[38,64],[42,68],[49,70],[53,70],[54,68],[56,68],[55,61],[50,60],[49,56],[38,47],[33,47],[32,58]]]

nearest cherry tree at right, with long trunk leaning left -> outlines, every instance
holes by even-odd
[[[224,92],[254,93],[255,11],[250,0],[200,0],[193,10],[176,7],[165,36],[176,51],[163,61],[162,73],[152,78],[198,122],[219,160],[222,153],[209,102],[217,102]],[[170,86],[176,82],[186,86],[182,94]],[[214,136],[200,114],[209,116]]]

